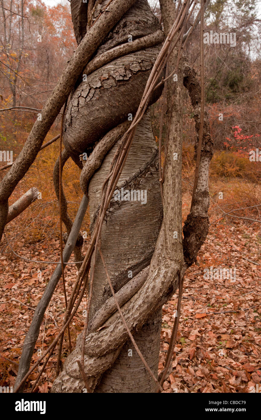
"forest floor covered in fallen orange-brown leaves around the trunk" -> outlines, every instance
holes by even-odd
[[[222,188],[220,183],[215,186],[217,191],[228,188],[224,185]],[[189,196],[183,202],[185,211],[188,203]],[[40,216],[41,226],[52,220],[51,212],[44,208]],[[261,383],[260,226],[257,227],[258,223],[248,223],[246,228],[245,220],[232,218],[217,221],[217,207],[215,210],[210,209],[210,216],[209,234],[198,253],[197,265],[193,264],[185,273],[173,370],[164,382],[164,392],[245,393]],[[22,216],[19,218],[22,219]],[[19,218],[18,224],[22,223]],[[15,382],[24,337],[34,308],[55,266],[44,261],[57,261],[60,246],[57,234],[30,241],[28,234],[17,234],[16,223],[12,223],[7,235],[10,243],[15,243],[15,252],[20,257],[42,262],[29,262],[16,257],[6,240],[3,241],[0,253],[0,386],[13,386]],[[86,247],[87,244],[84,250]],[[223,279],[222,276],[204,278],[206,269],[210,270],[211,267],[213,270],[236,270],[236,276],[229,279]],[[67,296],[72,290],[76,273],[74,265],[67,265]],[[177,293],[163,307],[159,371],[164,367],[177,307]],[[70,324],[73,343],[83,328],[85,308],[86,298]],[[63,286],[60,281],[40,328],[32,358],[34,362],[54,339],[62,325],[64,312]],[[67,354],[66,333],[63,360]],[[55,378],[55,364],[56,353],[47,363],[34,392],[48,392]],[[30,392],[37,374],[38,369],[30,375],[26,384],[27,392]]]

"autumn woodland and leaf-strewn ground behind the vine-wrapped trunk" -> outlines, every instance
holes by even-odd
[[[40,0],[0,0],[0,150],[13,161],[76,49],[68,1],[47,5]],[[56,3],[56,2],[55,2]],[[175,346],[173,373],[164,392],[249,392],[261,382],[261,2],[214,0],[206,12],[206,32],[232,32],[236,45],[205,45],[206,111],[214,156],[210,165],[210,230],[197,265],[185,275],[183,307]],[[159,3],[150,2],[159,18]],[[199,71],[199,28],[186,44],[191,67]],[[196,139],[193,110],[184,89],[183,220],[191,202]],[[151,106],[155,142],[162,101]],[[8,109],[7,108],[12,108]],[[57,117],[45,141],[60,131]],[[164,159],[163,127],[163,159]],[[250,151],[260,151],[260,161]],[[52,171],[59,154],[53,142],[35,162],[10,198],[15,202],[31,187],[40,192],[22,215],[8,223],[0,244],[0,386],[12,386],[24,336],[59,259],[59,209]],[[0,157],[1,159],[1,157]],[[8,168],[0,161],[0,180]],[[75,217],[82,197],[80,170],[68,160],[63,185],[68,211]],[[89,241],[89,215],[82,232]],[[36,260],[42,262],[27,261]],[[205,268],[233,268],[237,280],[204,278]],[[66,268],[68,290],[76,275]],[[44,318],[33,360],[48,347],[62,323],[63,289],[58,286]],[[84,305],[72,325],[72,339],[84,325]],[[176,299],[163,308],[162,360],[173,325]],[[63,358],[67,355],[65,349]],[[55,354],[35,392],[47,392],[54,380]],[[161,363],[161,360],[159,361]],[[162,369],[163,365],[159,365]],[[32,373],[27,383],[34,381]]]

